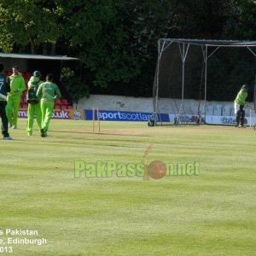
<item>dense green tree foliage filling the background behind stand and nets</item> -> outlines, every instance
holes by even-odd
[[[255,17],[253,0],[4,0],[0,50],[73,55],[90,92],[151,96],[158,38],[255,40]],[[252,84],[254,62],[240,50],[215,55],[210,97]]]

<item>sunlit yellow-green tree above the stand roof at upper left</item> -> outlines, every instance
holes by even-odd
[[[20,6],[22,6],[20,8]],[[16,46],[31,46],[32,54],[42,45],[55,45],[61,37],[55,9],[45,1],[5,0],[0,3],[0,48],[6,52]],[[45,47],[44,47],[45,49]],[[45,52],[44,52],[45,53]]]

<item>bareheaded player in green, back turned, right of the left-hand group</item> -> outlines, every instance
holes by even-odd
[[[54,76],[49,73],[46,76],[46,82],[39,85],[37,96],[41,101],[41,137],[47,137],[47,131],[49,129],[49,121],[51,114],[55,106],[55,100],[61,97],[61,91],[57,84],[53,83]]]

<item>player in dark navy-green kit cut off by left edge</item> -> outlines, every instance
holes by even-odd
[[[6,115],[7,93],[10,91],[9,79],[3,74],[3,63],[0,63],[0,115],[2,119],[2,134],[4,140],[12,140],[8,132],[8,118]]]

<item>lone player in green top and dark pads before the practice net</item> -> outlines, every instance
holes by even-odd
[[[241,86],[241,90],[238,92],[236,96],[236,100],[234,103],[235,113],[236,113],[236,124],[235,127],[243,127],[244,118],[245,118],[245,110],[243,109],[246,105],[247,98],[247,85],[243,84]]]

